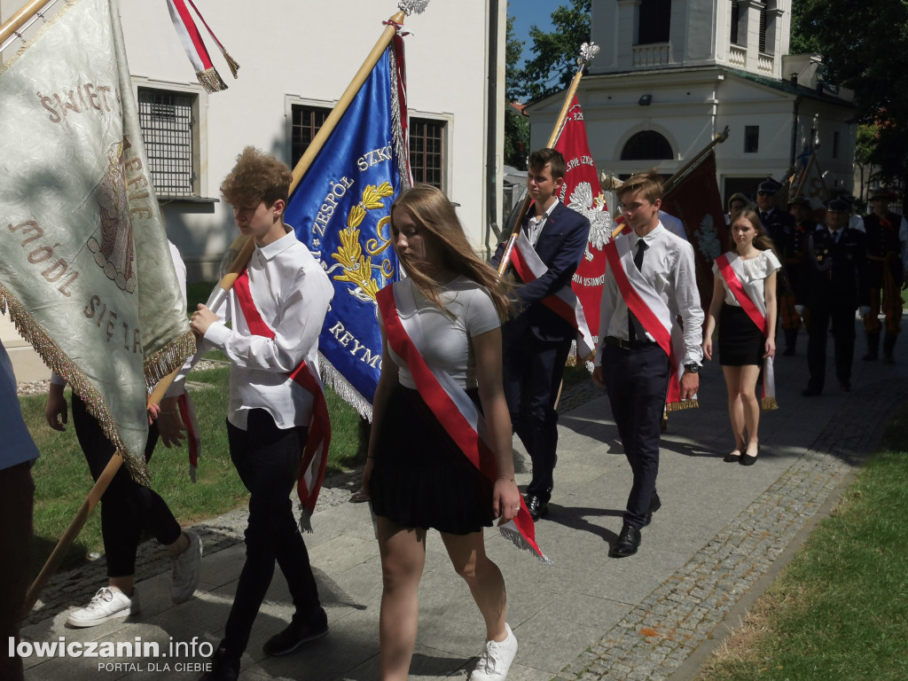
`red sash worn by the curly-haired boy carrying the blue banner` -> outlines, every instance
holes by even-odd
[[[236,299],[240,303],[243,316],[249,330],[256,336],[274,338],[274,331],[262,320],[262,315],[252,300],[249,289],[249,273],[245,269],[233,284]],[[312,395],[312,417],[309,422],[309,435],[302,452],[300,475],[297,479],[296,492],[300,497],[302,515],[300,528],[311,532],[311,518],[315,502],[319,498],[321,483],[325,479],[325,467],[328,465],[328,448],[331,445],[331,419],[328,416],[328,404],[325,402],[325,391],[316,370],[305,360],[292,370],[290,378],[302,390]]]

